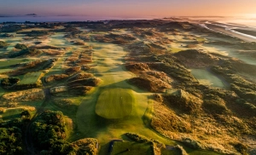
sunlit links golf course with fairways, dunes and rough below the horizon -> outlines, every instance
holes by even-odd
[[[256,43],[174,19],[3,30],[0,154],[216,155],[253,148]],[[6,145],[4,137],[17,141]]]

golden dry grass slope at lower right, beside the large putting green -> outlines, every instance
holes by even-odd
[[[241,144],[237,134],[242,130],[247,130],[247,126],[236,117],[230,118],[225,115],[219,115],[219,117],[221,118],[218,119],[218,122],[203,113],[201,115],[195,114],[195,116],[178,113],[155,101],[151,126],[161,135],[184,141],[194,148],[237,153],[235,144]],[[228,135],[227,133],[233,134]]]

